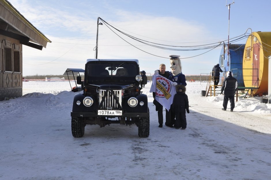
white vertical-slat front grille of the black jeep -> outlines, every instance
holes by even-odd
[[[122,90],[112,90],[112,92],[109,90],[107,94],[106,90],[100,89],[99,90],[99,104],[101,104],[101,100],[103,98],[104,95],[106,95],[106,98],[101,106],[102,109],[119,109],[121,107],[118,107],[118,104],[116,102],[116,100],[113,98],[113,94],[114,93],[117,98],[118,98],[118,102],[121,105],[122,102],[122,98],[121,98],[121,91]]]

